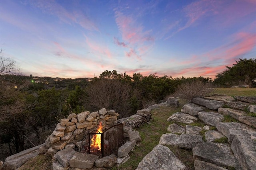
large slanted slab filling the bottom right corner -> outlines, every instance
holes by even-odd
[[[234,137],[231,149],[243,170],[256,168],[256,141],[247,137]]]

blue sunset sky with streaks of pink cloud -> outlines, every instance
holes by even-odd
[[[0,48],[26,76],[214,79],[256,58],[256,1],[0,0]]]

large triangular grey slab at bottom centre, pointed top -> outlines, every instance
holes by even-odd
[[[142,159],[136,170],[187,170],[187,168],[168,147],[156,145]]]

